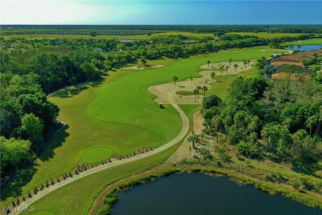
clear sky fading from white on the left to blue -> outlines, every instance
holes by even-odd
[[[5,24],[322,24],[322,1],[3,1]]]

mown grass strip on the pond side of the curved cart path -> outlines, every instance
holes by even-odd
[[[180,105],[180,107],[185,111],[189,119],[189,129],[191,131],[192,115],[201,108],[201,105]],[[120,179],[127,178],[164,163],[164,161],[179,148],[181,143],[182,141],[156,155],[102,170],[98,173],[76,180],[73,183],[69,183],[54,190],[30,206],[37,208],[37,211],[50,210],[55,214],[75,214],[75,211],[77,211],[77,214],[88,213],[94,199],[106,186]],[[22,212],[21,214],[27,213],[32,214],[32,212]]]

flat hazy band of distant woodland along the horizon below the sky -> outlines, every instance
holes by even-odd
[[[268,32],[322,34],[321,25],[2,25],[3,34],[90,34],[139,35],[165,31],[222,34],[228,32]]]

